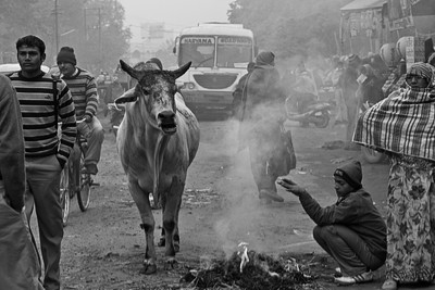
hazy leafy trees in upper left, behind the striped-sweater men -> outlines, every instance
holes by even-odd
[[[48,65],[55,63],[58,49],[70,46],[80,66],[112,71],[128,51],[132,38],[129,29],[123,27],[124,20],[124,8],[116,0],[3,0],[0,51],[15,52],[16,40],[34,34],[46,42]]]

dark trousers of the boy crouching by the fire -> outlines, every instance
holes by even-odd
[[[384,261],[370,252],[364,240],[348,227],[316,226],[313,237],[334,257],[345,275],[355,276],[368,269],[375,270],[384,264]]]

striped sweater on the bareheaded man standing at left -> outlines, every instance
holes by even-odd
[[[64,81],[55,81],[51,75],[44,73],[35,78],[25,78],[17,72],[10,75],[10,78],[23,116],[26,157],[57,154],[63,167],[77,135],[74,103],[69,87]],[[53,101],[54,92],[57,102]],[[60,137],[58,122],[62,122]]]

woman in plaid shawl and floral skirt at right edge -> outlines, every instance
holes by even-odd
[[[432,282],[435,275],[435,71],[409,67],[406,88],[364,112],[353,142],[384,151],[391,165],[387,193],[386,280]]]

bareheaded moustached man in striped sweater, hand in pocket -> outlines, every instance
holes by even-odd
[[[46,45],[28,35],[16,41],[21,71],[10,75],[23,117],[25,146],[25,210],[30,219],[34,206],[38,218],[45,265],[44,287],[60,289],[61,241],[60,177],[76,138],[74,103],[63,80],[41,71]],[[58,121],[62,122],[58,137]]]

